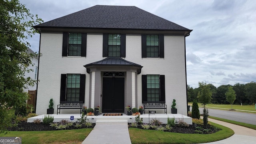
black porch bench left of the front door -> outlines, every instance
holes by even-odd
[[[83,101],[60,101],[60,104],[57,106],[57,114],[60,114],[60,109],[80,109],[80,114],[82,114]]]

